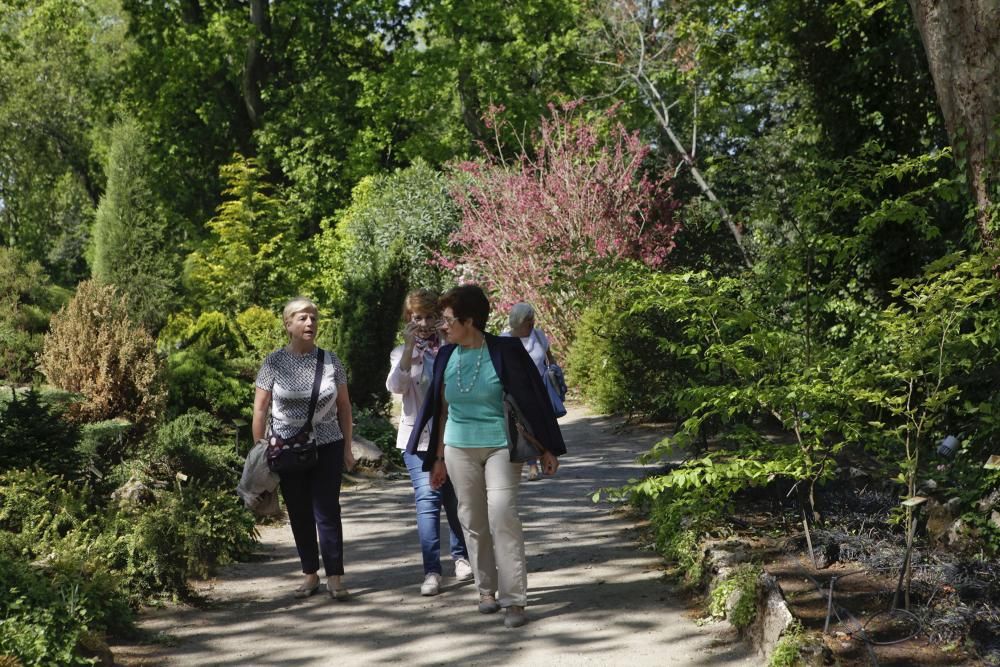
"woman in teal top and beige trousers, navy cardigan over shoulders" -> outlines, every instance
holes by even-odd
[[[546,448],[542,468],[555,474],[566,446],[531,357],[519,340],[484,332],[489,301],[475,285],[447,292],[439,302],[449,343],[434,363],[434,377],[415,431],[431,422],[425,462],[431,485],[450,479],[458,518],[479,589],[479,611],[505,608],[504,625],[527,622],[528,577],[517,511],[521,463],[512,463],[504,431],[503,394],[521,406]],[[443,428],[442,428],[443,426]],[[411,437],[408,449],[415,446]]]

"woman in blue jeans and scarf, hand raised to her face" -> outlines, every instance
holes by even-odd
[[[413,431],[417,412],[424,404],[427,387],[431,382],[434,359],[441,344],[437,331],[440,322],[437,293],[421,289],[406,295],[403,305],[403,344],[389,356],[389,377],[385,387],[402,398],[403,409],[399,418],[396,446],[406,449]],[[425,428],[420,433],[414,453],[403,452],[403,461],[410,472],[413,494],[417,507],[417,536],[423,554],[424,581],[421,595],[437,595],[441,590],[441,508],[448,519],[451,558],[455,563],[455,578],[466,581],[472,578],[462,524],[458,521],[458,499],[451,482],[440,488],[431,487],[431,475],[423,469],[427,458],[430,433]]]

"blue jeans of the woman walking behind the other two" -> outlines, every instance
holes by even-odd
[[[403,452],[403,462],[410,471],[413,495],[417,505],[417,535],[420,537],[420,551],[424,557],[424,574],[441,574],[441,507],[444,506],[448,518],[448,532],[451,534],[452,559],[469,557],[462,535],[462,524],[458,522],[458,498],[455,487],[449,479],[435,491],[431,488],[431,474],[423,471],[426,452],[409,454]]]

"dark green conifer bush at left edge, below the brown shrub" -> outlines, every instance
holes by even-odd
[[[79,429],[62,419],[61,412],[44,405],[37,392],[0,403],[0,470],[38,466],[57,474],[74,476],[80,465],[76,451]]]

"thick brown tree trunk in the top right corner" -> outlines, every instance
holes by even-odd
[[[1000,183],[1000,0],[909,0],[956,157],[965,162],[983,245]]]

